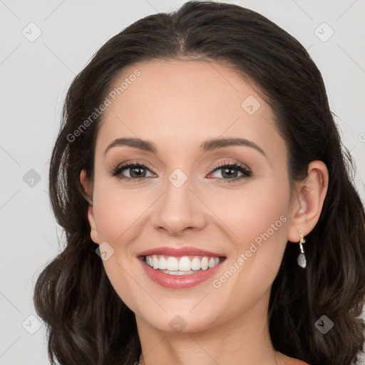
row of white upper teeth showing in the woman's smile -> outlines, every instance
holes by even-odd
[[[145,257],[145,263],[153,269],[163,270],[167,274],[183,275],[215,267],[220,263],[220,258],[207,256],[173,257],[152,255]]]

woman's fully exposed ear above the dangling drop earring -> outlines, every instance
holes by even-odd
[[[305,236],[317,225],[327,194],[327,166],[322,161],[312,161],[308,165],[307,178],[296,185],[287,232],[290,242],[299,242],[299,231]]]

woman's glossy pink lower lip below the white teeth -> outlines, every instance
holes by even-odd
[[[147,276],[156,284],[168,289],[188,289],[196,287],[217,273],[217,270],[220,269],[220,264],[222,263],[221,261],[217,264],[217,266],[200,272],[195,272],[195,274],[171,275],[165,274],[165,272],[160,272],[160,270],[153,269],[143,261],[143,257],[139,257],[138,259]]]

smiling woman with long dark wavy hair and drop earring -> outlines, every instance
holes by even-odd
[[[351,364],[364,207],[318,68],[255,11],[135,22],[76,76],[36,282],[61,364]]]

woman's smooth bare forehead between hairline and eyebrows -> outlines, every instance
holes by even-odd
[[[104,115],[97,153],[122,137],[153,140],[181,152],[187,144],[219,136],[283,147],[271,108],[237,71],[218,63],[135,63],[123,70],[113,90],[118,92]]]

